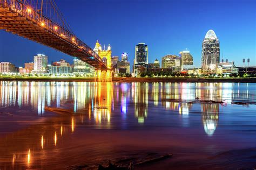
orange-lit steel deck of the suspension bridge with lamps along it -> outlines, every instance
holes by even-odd
[[[31,15],[24,15],[21,10],[0,4],[0,29],[57,49],[68,55],[76,56],[96,69],[109,69],[90,47],[84,44],[81,45],[81,41],[70,37],[70,34],[66,36],[66,34],[57,31],[60,26],[56,26],[56,30],[54,30],[53,27],[49,28],[48,25],[42,24],[38,19],[35,19],[36,15],[39,15],[39,13],[35,12],[32,15],[34,17],[31,17]],[[44,21],[47,19],[44,18]]]

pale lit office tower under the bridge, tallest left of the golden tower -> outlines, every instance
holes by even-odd
[[[34,73],[46,73],[48,56],[37,54],[34,56]]]

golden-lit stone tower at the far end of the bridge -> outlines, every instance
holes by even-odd
[[[112,73],[111,73],[112,72],[111,71],[112,51],[111,51],[110,44],[107,47],[107,49],[105,49],[105,45],[104,45],[104,49],[102,49],[102,46],[99,44],[99,41],[97,40],[93,51],[95,51],[99,55],[99,57],[103,60],[107,68],[109,68],[109,70],[107,71],[95,70],[95,77],[97,77],[97,81],[111,81],[112,80]]]

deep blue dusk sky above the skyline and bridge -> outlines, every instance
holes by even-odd
[[[96,40],[112,47],[112,55],[129,53],[131,66],[138,42],[149,46],[149,62],[188,48],[200,66],[201,43],[212,29],[224,59],[256,66],[256,1],[254,0],[55,0],[72,31],[92,48]],[[16,66],[43,53],[51,61],[72,57],[11,33],[0,31],[0,61]]]

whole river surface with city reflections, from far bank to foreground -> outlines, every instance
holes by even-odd
[[[0,169],[250,169],[255,100],[255,83],[0,82]]]

